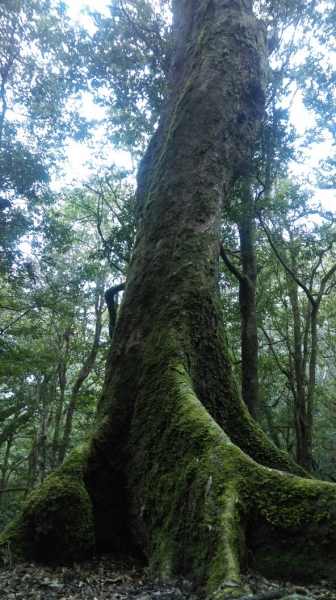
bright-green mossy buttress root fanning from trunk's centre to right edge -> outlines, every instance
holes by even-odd
[[[148,400],[158,410],[144,416],[139,399],[129,481],[133,529],[153,570],[187,573],[218,597],[233,593],[226,583],[239,583],[248,556],[273,575],[290,565],[301,578],[335,576],[334,485],[251,460],[200,404],[182,363],[161,371]]]

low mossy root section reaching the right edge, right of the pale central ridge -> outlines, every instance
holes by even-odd
[[[251,564],[266,575],[336,579],[335,485],[260,468],[246,473]]]

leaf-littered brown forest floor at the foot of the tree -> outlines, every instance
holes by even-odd
[[[10,561],[10,557],[9,557]],[[335,567],[336,568],[336,567]],[[244,595],[237,600],[336,600],[336,583],[295,585],[269,581],[247,570]],[[1,600],[204,600],[204,588],[186,579],[162,583],[129,557],[103,556],[72,568],[33,563],[0,569]]]

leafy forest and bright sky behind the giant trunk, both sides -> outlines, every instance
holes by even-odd
[[[335,8],[255,10],[270,67],[253,158],[222,218],[227,343],[253,418],[335,482],[336,228],[322,202],[335,186]],[[1,526],[92,428],[110,344],[104,294],[127,275],[134,173],[165,96],[169,3],[116,1],[91,20],[74,24],[63,3],[0,3]],[[99,120],[83,111],[88,94]],[[297,97],[304,132],[290,120]],[[85,180],[62,186],[70,140],[95,156]],[[108,164],[110,145],[127,168]],[[311,156],[304,176],[295,163]]]

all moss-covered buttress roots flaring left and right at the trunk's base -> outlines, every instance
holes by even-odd
[[[335,485],[254,462],[212,419],[176,360],[156,387],[156,404],[147,413],[140,398],[136,404],[124,490],[128,529],[153,572],[187,574],[216,598],[242,595],[247,559],[267,575],[335,576]],[[1,540],[13,555],[69,562],[92,551],[87,452],[74,451],[25,502]],[[113,494],[111,486],[105,504]]]

